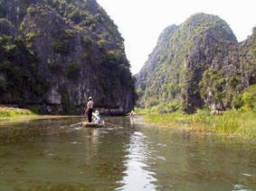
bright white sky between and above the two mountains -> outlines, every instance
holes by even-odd
[[[238,41],[256,25],[256,0],[98,0],[119,26],[131,71],[136,74],[156,46],[160,33],[196,13],[216,14],[232,28]]]

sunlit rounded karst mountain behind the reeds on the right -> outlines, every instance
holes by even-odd
[[[186,113],[231,108],[235,95],[255,83],[256,29],[238,43],[229,25],[211,14],[167,27],[137,74],[140,105],[178,100]]]

